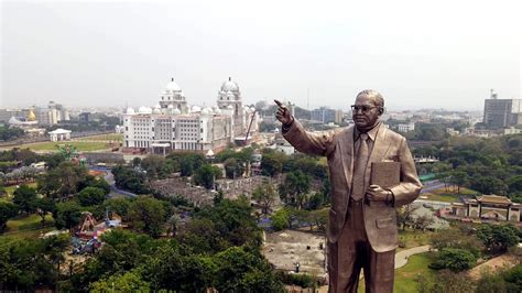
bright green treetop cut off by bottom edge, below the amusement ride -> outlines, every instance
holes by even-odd
[[[139,273],[126,272],[110,275],[93,283],[90,292],[151,292],[150,284],[143,281]]]

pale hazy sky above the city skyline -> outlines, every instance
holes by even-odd
[[[351,2],[351,3],[349,3]],[[0,107],[153,106],[171,77],[216,104],[481,110],[521,97],[516,1],[2,1]]]

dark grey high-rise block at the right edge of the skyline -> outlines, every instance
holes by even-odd
[[[483,104],[483,123],[493,128],[522,124],[522,99],[499,99],[491,89]]]

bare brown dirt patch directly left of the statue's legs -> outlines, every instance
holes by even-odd
[[[263,254],[276,269],[325,275],[325,236],[294,230],[265,235]]]

